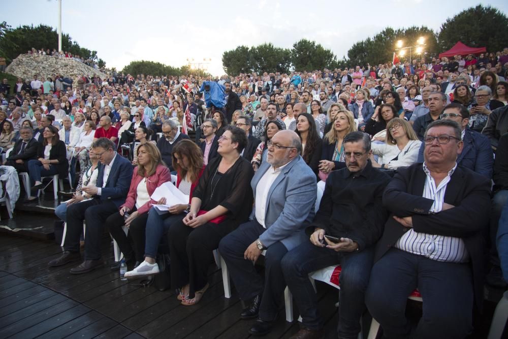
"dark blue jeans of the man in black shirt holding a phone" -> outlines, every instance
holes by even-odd
[[[365,310],[364,295],[369,283],[373,248],[359,252],[335,252],[303,242],[282,258],[282,272],[295,298],[302,325],[321,329],[324,320],[317,311],[317,296],[310,283],[309,273],[340,264],[340,303],[337,333],[340,338],[356,338],[360,332],[360,318]]]

